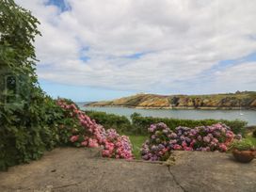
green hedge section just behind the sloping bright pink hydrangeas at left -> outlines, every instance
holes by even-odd
[[[118,133],[131,133],[132,124],[125,116],[107,114],[99,111],[85,111],[88,117],[102,124],[105,129],[116,129]]]

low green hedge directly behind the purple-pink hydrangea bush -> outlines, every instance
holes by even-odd
[[[131,116],[133,130],[138,135],[147,135],[148,127],[153,123],[164,122],[168,125],[170,130],[174,130],[178,126],[184,127],[198,127],[216,124],[218,122],[225,123],[231,127],[234,134],[244,135],[245,127],[247,122],[243,120],[179,120],[171,118],[152,118],[152,117],[141,117],[140,114],[134,113]]]

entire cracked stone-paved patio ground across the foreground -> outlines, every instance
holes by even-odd
[[[175,152],[175,164],[105,159],[97,150],[47,152],[40,161],[0,172],[0,191],[256,191],[256,160],[219,152]]]

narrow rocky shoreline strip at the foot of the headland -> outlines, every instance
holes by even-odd
[[[123,108],[136,108],[136,109],[170,109],[170,110],[240,110],[240,107],[213,107],[213,106],[203,106],[203,107],[192,107],[192,106],[133,106],[133,105],[89,105],[85,104],[84,107],[123,107]],[[255,111],[256,108],[242,108],[241,110]]]

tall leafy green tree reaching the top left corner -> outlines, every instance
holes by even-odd
[[[53,143],[47,110],[55,103],[40,89],[35,72],[38,24],[13,0],[0,1],[0,169],[38,159]]]

